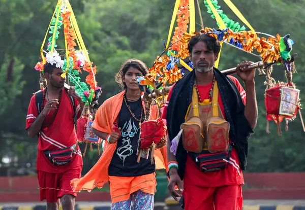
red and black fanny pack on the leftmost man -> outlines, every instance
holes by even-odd
[[[75,152],[76,144],[72,147],[54,150],[54,151],[44,151],[44,154],[50,160],[50,162],[55,165],[65,165],[70,163]]]

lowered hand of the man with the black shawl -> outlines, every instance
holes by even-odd
[[[178,191],[175,190],[176,185],[179,188]],[[169,171],[169,182],[167,187],[171,196],[178,202],[177,197],[182,196],[183,182],[181,181],[176,168],[171,168]]]

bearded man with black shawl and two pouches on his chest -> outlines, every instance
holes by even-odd
[[[182,196],[187,210],[242,209],[241,170],[257,122],[255,69],[244,71],[249,61],[237,65],[245,91],[235,77],[214,67],[220,52],[215,38],[199,34],[188,49],[194,71],[174,84],[163,112],[169,191],[177,201]]]

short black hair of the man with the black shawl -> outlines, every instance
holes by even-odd
[[[218,54],[220,52],[219,42],[214,37],[211,37],[205,33],[201,33],[195,37],[192,37],[192,39],[190,40],[188,45],[190,55],[192,55],[193,47],[198,42],[204,42],[206,44],[207,49],[214,51],[215,54]]]

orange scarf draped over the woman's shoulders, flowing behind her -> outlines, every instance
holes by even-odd
[[[111,133],[113,131],[112,125],[116,121],[121,109],[125,92],[120,92],[105,100],[96,113],[96,118],[92,125],[95,129],[105,133]],[[142,101],[142,105],[144,107],[144,101]],[[157,106],[151,106],[150,113],[150,120],[156,120],[159,117]],[[108,168],[116,145],[117,143],[109,144],[105,141],[103,154],[93,168],[84,177],[71,181],[71,187],[74,191],[87,190],[90,192],[95,187],[102,188],[109,181]],[[155,163],[156,169],[165,168],[168,171],[166,147],[155,151]]]

